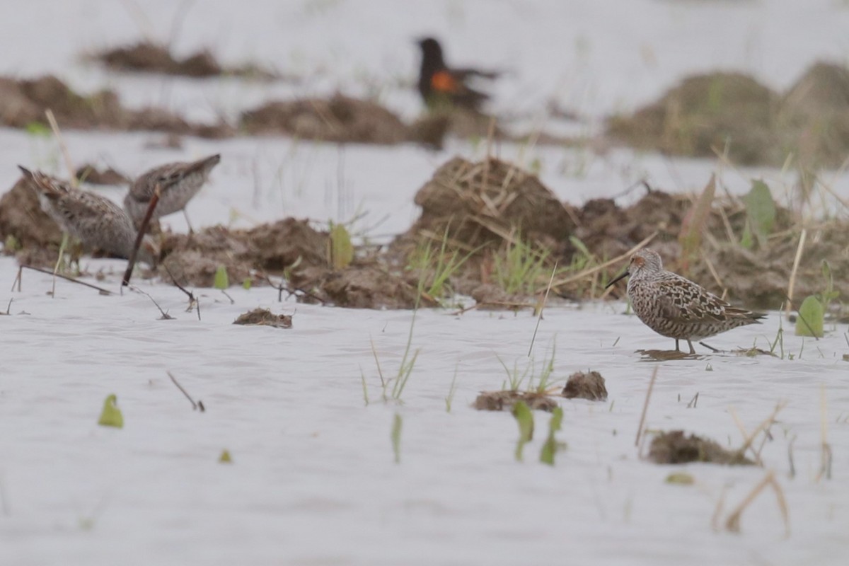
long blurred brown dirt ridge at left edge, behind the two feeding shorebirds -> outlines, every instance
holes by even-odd
[[[164,109],[125,109],[112,91],[82,96],[55,76],[20,81],[0,77],[0,124],[15,128],[48,126],[46,109],[53,111],[59,126],[76,130],[152,130],[198,137],[233,135],[226,125],[192,124]]]

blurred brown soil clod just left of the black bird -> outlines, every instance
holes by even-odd
[[[406,141],[408,127],[389,110],[357,98],[305,98],[270,102],[242,114],[250,134],[276,133],[337,143],[395,144]]]

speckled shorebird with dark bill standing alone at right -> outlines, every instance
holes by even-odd
[[[681,351],[678,340],[687,340],[689,353],[695,354],[692,340],[760,323],[759,319],[766,317],[728,305],[704,287],[665,271],[661,256],[651,249],[640,249],[632,255],[627,271],[607,287],[628,276],[628,299],[634,312],[656,333],[674,338],[677,351]]]

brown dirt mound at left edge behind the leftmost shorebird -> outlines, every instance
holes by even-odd
[[[10,236],[17,247],[24,249],[58,248],[62,242],[62,231],[42,210],[35,189],[24,177],[20,177],[14,187],[0,197],[0,241],[7,241]],[[7,247],[5,251],[11,253],[16,250]]]

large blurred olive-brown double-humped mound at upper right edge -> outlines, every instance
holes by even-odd
[[[638,149],[713,157],[728,143],[743,165],[841,165],[849,153],[849,70],[812,65],[779,95],[749,76],[690,76],[658,101],[608,122],[610,137]]]

